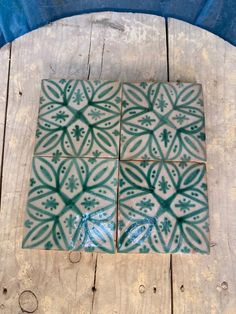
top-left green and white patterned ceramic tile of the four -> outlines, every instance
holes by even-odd
[[[118,157],[121,84],[43,80],[35,154]]]

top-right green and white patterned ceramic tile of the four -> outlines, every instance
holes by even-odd
[[[122,112],[121,159],[205,160],[201,85],[125,83]]]

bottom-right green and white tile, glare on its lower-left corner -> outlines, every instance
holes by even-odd
[[[118,251],[208,253],[205,164],[120,164]]]

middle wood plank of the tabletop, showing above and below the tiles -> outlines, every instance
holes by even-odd
[[[165,21],[142,14],[96,15],[90,77],[166,80]],[[93,313],[171,312],[169,255],[98,254]]]

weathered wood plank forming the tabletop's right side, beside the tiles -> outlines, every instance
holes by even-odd
[[[203,84],[211,253],[173,256],[175,314],[236,313],[236,48],[169,22],[170,80]]]

